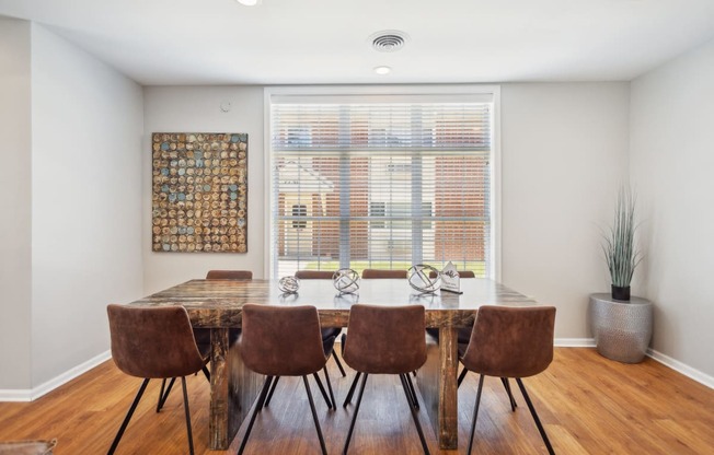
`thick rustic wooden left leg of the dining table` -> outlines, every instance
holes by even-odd
[[[247,417],[263,376],[243,365],[239,347],[229,346],[228,328],[211,329],[210,339],[209,446],[224,451]]]

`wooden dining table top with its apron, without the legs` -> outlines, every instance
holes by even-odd
[[[533,299],[488,279],[461,280],[462,294],[437,291],[419,294],[404,279],[360,280],[355,294],[339,294],[332,280],[301,280],[297,294],[285,294],[277,280],[191,280],[140,299],[137,305],[183,305],[196,327],[238,327],[245,303],[263,305],[313,305],[323,325],[346,325],[355,303],[372,305],[424,305],[428,326],[468,325],[481,305],[523,306]]]

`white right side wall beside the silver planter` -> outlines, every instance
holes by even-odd
[[[632,83],[653,348],[714,376],[714,40]]]

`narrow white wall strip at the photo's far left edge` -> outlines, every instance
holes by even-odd
[[[0,390],[30,388],[30,22],[0,16]]]

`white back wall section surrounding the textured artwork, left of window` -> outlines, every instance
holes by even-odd
[[[145,89],[143,222],[145,291],[153,293],[206,277],[209,269],[246,269],[263,277],[265,210],[262,86],[176,86]],[[223,101],[231,110],[220,109]],[[151,250],[151,133],[247,133],[247,253],[153,253]]]

